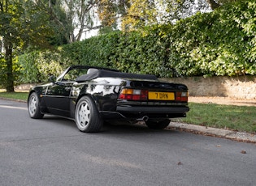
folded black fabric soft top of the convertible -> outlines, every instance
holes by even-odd
[[[148,80],[157,80],[158,78],[155,75],[144,75],[144,74],[130,74],[115,72],[110,70],[96,70],[89,74],[84,74],[76,78],[76,82],[85,82],[92,80],[93,78],[136,78],[136,79],[148,79]]]

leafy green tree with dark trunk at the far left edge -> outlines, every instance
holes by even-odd
[[[50,36],[48,18],[33,1],[0,1],[0,38],[2,43],[1,83],[8,92],[14,91],[16,55],[33,46],[46,47],[46,36]]]

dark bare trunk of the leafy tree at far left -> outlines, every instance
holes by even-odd
[[[5,48],[5,59],[7,62],[7,82],[5,83],[5,88],[7,92],[13,92],[14,91],[14,76],[13,76],[13,70],[12,70],[12,44],[7,42],[4,42],[4,48]]]

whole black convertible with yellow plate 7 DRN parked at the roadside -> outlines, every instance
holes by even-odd
[[[164,129],[171,118],[189,112],[188,87],[160,82],[154,75],[128,74],[91,66],[71,66],[50,83],[33,87],[28,95],[31,118],[44,114],[75,120],[85,133],[101,130],[104,121],[145,121]]]

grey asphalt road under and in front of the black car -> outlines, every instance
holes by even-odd
[[[80,133],[0,100],[0,185],[255,185],[256,145],[142,125]]]

